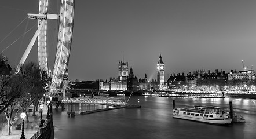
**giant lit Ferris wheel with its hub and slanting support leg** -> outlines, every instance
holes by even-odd
[[[38,65],[40,69],[48,71],[47,65],[47,20],[59,20],[58,39],[56,58],[52,72],[51,89],[57,89],[63,82],[65,71],[67,69],[68,60],[71,50],[72,32],[74,25],[74,0],[60,0],[60,13],[50,14],[48,10],[48,0],[39,0],[39,13],[28,13],[28,18],[38,20],[38,29],[32,37],[25,53],[16,68],[20,71],[25,62],[36,38],[38,38]]]

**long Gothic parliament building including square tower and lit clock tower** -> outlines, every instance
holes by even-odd
[[[128,61],[119,61],[118,63],[118,78],[110,78],[108,81],[100,81],[100,90],[151,90],[164,88],[164,63],[160,54],[158,58],[157,79],[148,79],[147,74],[144,78],[138,78],[133,74],[132,65],[129,71]]]

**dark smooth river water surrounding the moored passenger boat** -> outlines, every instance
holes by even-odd
[[[236,114],[243,115],[246,122],[218,126],[173,119],[171,111],[173,99],[176,107],[214,105],[229,108],[229,101],[232,101]],[[65,104],[65,111],[61,111],[60,108],[57,111],[53,109],[54,138],[253,139],[256,137],[256,100],[131,96],[129,103],[139,103],[142,107],[80,115],[81,111],[105,108],[106,106],[72,104],[72,110],[76,111],[75,117],[67,115],[67,111],[71,110],[70,104]]]

